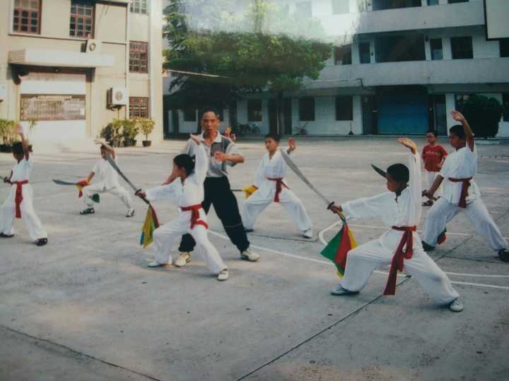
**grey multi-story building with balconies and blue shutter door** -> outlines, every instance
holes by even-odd
[[[309,135],[430,128],[444,134],[454,123],[447,111],[471,95],[495,97],[509,109],[509,39],[486,40],[483,0],[284,3],[289,12],[320,20],[334,54],[320,78],[286,93],[283,126],[277,127],[269,93],[238,102],[230,115],[238,123],[257,124],[262,133],[288,134],[300,126]],[[195,128],[183,111],[179,115],[173,119],[180,132]],[[509,136],[508,112],[499,135]]]

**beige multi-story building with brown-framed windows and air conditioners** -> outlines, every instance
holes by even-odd
[[[90,142],[114,118],[163,138],[161,0],[2,0],[0,118],[35,144]]]

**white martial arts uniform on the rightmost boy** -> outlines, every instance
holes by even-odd
[[[484,238],[488,246],[493,250],[508,247],[508,242],[503,238],[500,229],[496,226],[481,200],[479,187],[474,179],[470,181],[467,195],[467,207],[459,207],[463,184],[452,182],[450,179],[468,179],[477,174],[477,147],[474,145],[472,152],[467,146],[450,153],[445,159],[440,176],[443,177],[443,195],[435,202],[426,216],[424,229],[424,242],[435,246],[438,236],[445,230],[447,222],[461,211],[469,217],[476,232]]]

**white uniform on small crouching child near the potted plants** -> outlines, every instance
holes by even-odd
[[[117,163],[116,157],[115,163]],[[119,184],[117,171],[113,169],[106,159],[99,159],[99,161],[95,163],[92,171],[95,174],[94,178],[98,179],[98,181],[94,181],[94,183],[84,187],[82,191],[83,202],[85,202],[88,207],[93,207],[92,196],[95,193],[107,192],[122,200],[124,205],[127,206],[127,209],[131,210],[133,208],[131,195],[126,188]]]

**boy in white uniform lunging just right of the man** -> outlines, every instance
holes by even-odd
[[[302,231],[303,236],[312,238],[311,219],[305,211],[303,203],[288,188],[288,183],[284,179],[286,162],[279,150],[279,140],[279,135],[272,133],[265,135],[265,147],[268,152],[262,157],[253,183],[257,191],[250,195],[242,205],[242,222],[246,231],[252,231],[258,215],[271,202],[279,202],[291,215],[293,222]],[[295,140],[289,138],[286,153],[292,157],[295,150]]]

